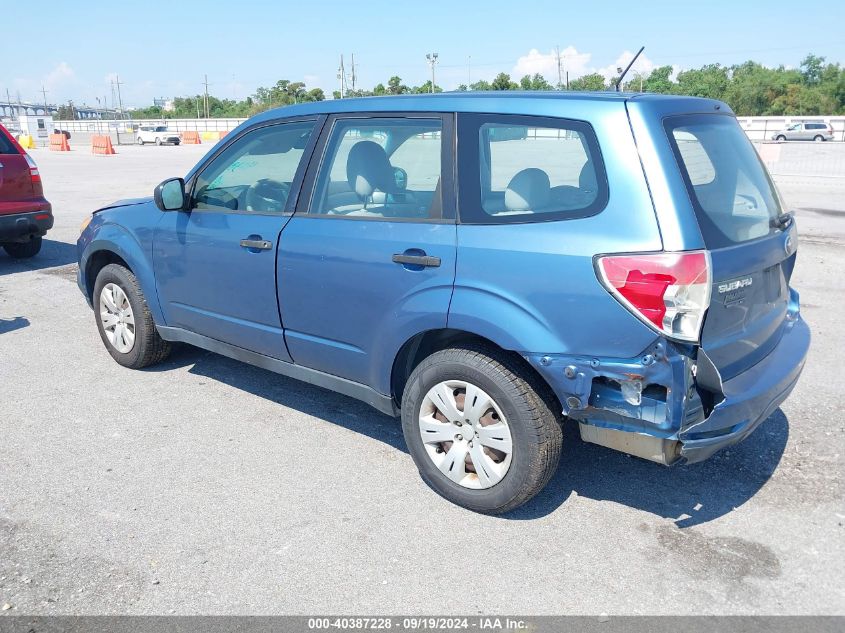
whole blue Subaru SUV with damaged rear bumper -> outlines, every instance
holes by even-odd
[[[810,343],[791,215],[727,105],[457,93],[260,114],[96,211],[79,287],[121,365],[196,345],[401,414],[501,513],[561,424],[663,464],[745,438]]]

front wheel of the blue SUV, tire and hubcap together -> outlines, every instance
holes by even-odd
[[[94,311],[103,344],[124,367],[141,369],[170,354],[132,271],[119,264],[103,267],[94,283]]]

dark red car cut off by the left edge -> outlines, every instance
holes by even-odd
[[[0,125],[0,246],[15,258],[32,257],[53,228],[35,161]]]

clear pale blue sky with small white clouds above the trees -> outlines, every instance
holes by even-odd
[[[29,8],[28,5],[37,8]],[[427,52],[447,89],[500,71],[541,72],[557,80],[555,46],[570,79],[610,73],[645,45],[640,70],[754,59],[797,66],[808,52],[845,63],[845,2],[680,1],[533,2],[531,0],[326,0],[198,2],[147,0],[134,8],[92,1],[0,2],[0,95],[96,105],[111,100],[120,76],[124,102],[202,91],[243,98],[278,79],[305,81],[330,94],[340,54],[355,54],[359,85],[398,74],[407,84],[429,78]],[[143,7],[139,9],[139,7]],[[50,16],[50,17],[47,17]],[[795,28],[806,24],[807,28]],[[822,28],[819,28],[823,25]],[[627,55],[626,55],[627,54]],[[635,66],[635,70],[637,67]]]

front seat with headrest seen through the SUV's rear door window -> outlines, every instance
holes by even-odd
[[[333,209],[345,215],[384,215],[384,204],[374,204],[376,192],[392,193],[396,188],[393,167],[381,145],[360,141],[349,150],[346,159],[346,179],[359,202]]]

